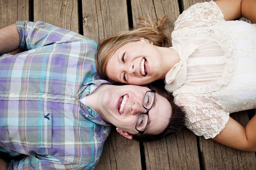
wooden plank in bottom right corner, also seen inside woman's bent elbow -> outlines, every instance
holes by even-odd
[[[232,118],[243,126],[249,121],[248,112],[241,111],[230,114]],[[255,152],[245,152],[232,149],[213,141],[201,138],[202,164],[205,170],[214,169],[256,169]]]

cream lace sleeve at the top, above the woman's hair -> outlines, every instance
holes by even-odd
[[[209,27],[221,20],[224,20],[224,16],[215,2],[196,3],[178,17],[174,30]]]

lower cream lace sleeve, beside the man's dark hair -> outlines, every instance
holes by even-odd
[[[185,126],[205,139],[214,138],[225,128],[229,113],[223,110],[212,97],[181,94],[175,103],[184,106]]]

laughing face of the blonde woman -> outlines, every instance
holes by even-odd
[[[159,47],[140,39],[120,47],[106,65],[107,76],[127,84],[148,84],[162,79]]]

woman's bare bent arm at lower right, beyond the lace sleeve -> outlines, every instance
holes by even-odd
[[[229,117],[225,128],[213,140],[231,148],[256,151],[256,115],[243,127]]]

